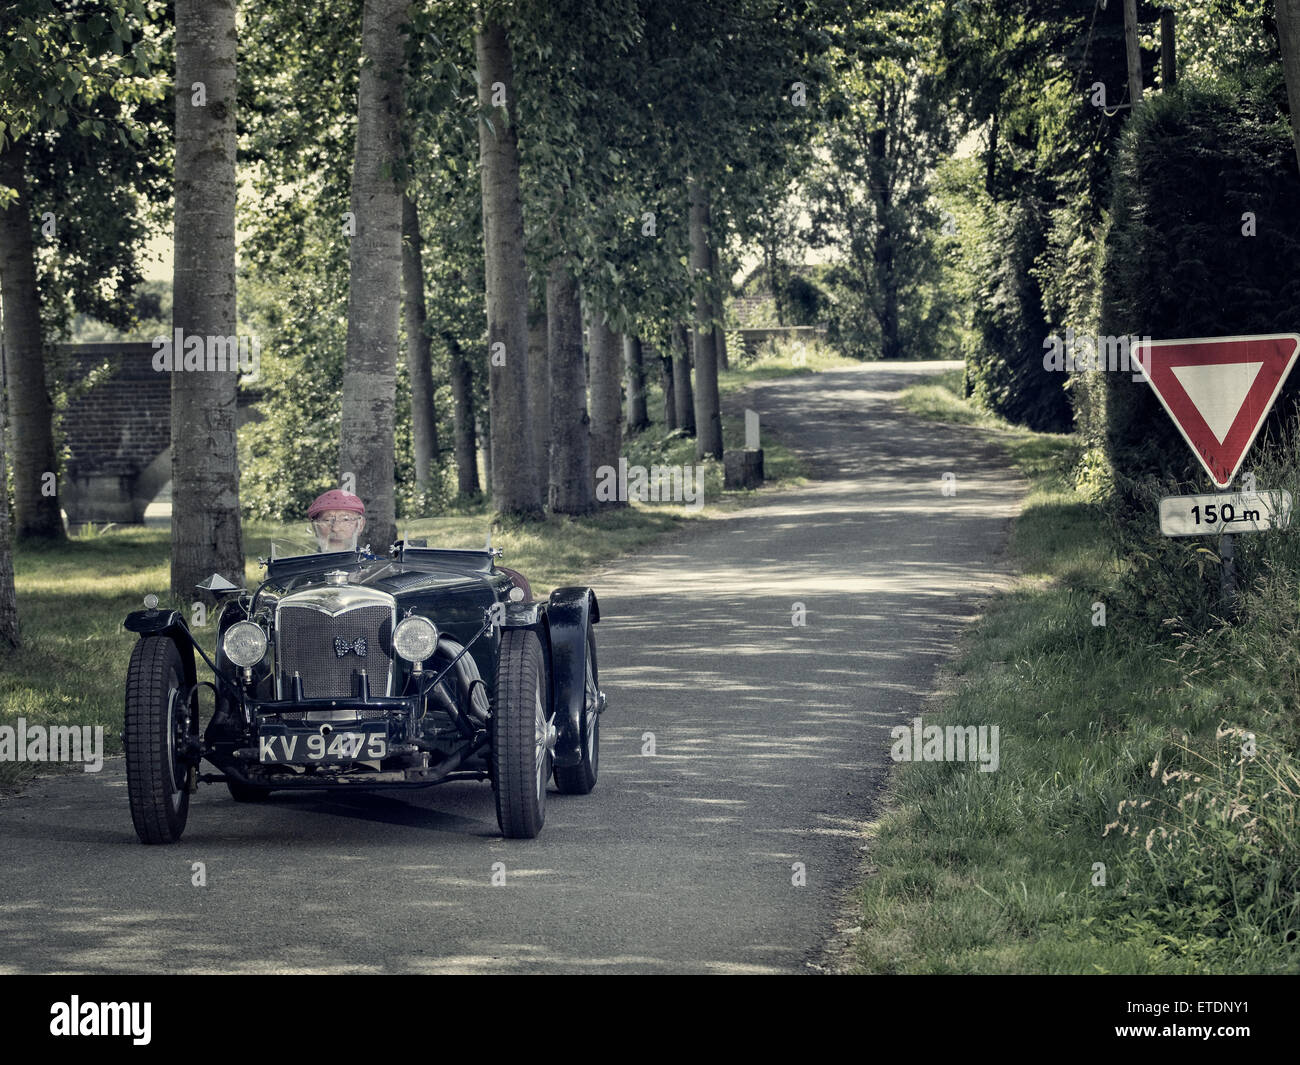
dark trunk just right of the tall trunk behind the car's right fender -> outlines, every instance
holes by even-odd
[[[554,514],[590,514],[592,421],[586,414],[582,306],[564,260],[546,278],[546,343],[551,377],[550,502]]]

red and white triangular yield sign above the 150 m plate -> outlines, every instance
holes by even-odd
[[[1227,488],[1282,391],[1300,334],[1143,341],[1138,359],[1178,432]]]

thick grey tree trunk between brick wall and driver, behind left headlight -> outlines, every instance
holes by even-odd
[[[195,82],[205,87],[202,107]],[[173,335],[205,345],[234,337],[235,0],[177,0],[174,218]],[[182,372],[187,354],[172,352],[172,596],[181,602],[195,599],[194,585],[213,572],[244,583],[239,372]]]

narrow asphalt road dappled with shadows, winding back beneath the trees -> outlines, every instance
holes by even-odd
[[[552,791],[540,839],[499,837],[488,784],[205,785],[178,845],[142,847],[112,759],[0,804],[0,973],[810,971],[888,731],[1006,577],[1023,484],[890,406],[942,367],[755,386],[816,480],[592,576],[601,780]]]

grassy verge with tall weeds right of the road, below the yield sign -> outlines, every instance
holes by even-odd
[[[944,377],[902,404],[988,425],[949,419],[959,376]],[[997,724],[1001,763],[896,766],[857,971],[1300,971],[1300,655],[1277,664],[1277,589],[1252,593],[1243,624],[1153,631],[1100,507],[1069,480],[1070,440],[993,432],[1031,480],[1011,537],[1023,576],[924,722]]]

